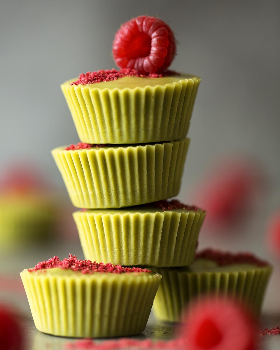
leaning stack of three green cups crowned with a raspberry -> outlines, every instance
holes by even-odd
[[[119,71],[87,72],[61,85],[81,142],[52,155],[72,204],[92,209],[74,216],[85,258],[127,266],[188,265],[205,213],[166,200],[180,190],[200,78],[166,70],[175,39],[166,23],[152,17],[125,23],[113,55]],[[147,205],[153,202],[158,209]],[[124,232],[138,243],[122,255]],[[108,254],[98,255],[100,250]]]

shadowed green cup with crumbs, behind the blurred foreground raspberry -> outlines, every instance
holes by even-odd
[[[233,297],[259,315],[272,267],[250,253],[204,250],[190,266],[153,270],[162,275],[155,317],[180,322],[186,307],[205,295]]]

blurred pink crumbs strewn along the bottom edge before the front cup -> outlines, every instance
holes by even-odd
[[[183,350],[186,348],[186,341],[183,338],[171,339],[168,341],[152,341],[151,339],[137,340],[120,338],[96,342],[91,339],[82,339],[66,344],[66,349],[77,350],[114,350],[114,349],[165,349]]]

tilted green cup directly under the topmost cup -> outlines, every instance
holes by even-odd
[[[77,208],[121,208],[179,193],[189,139],[162,144],[52,150]]]

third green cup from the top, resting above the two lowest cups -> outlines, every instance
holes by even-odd
[[[126,266],[184,266],[195,257],[205,211],[152,206],[73,214],[86,259]]]

